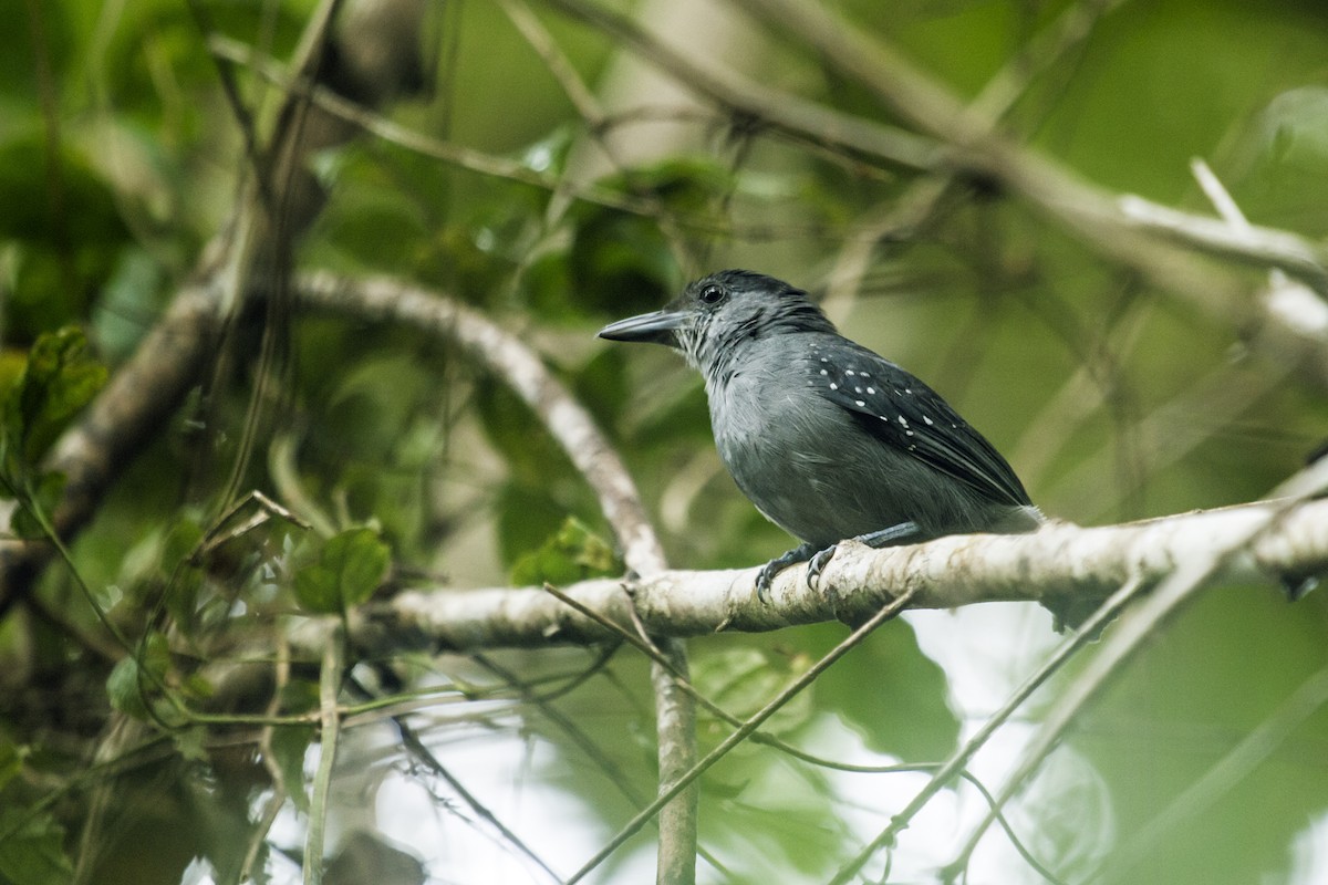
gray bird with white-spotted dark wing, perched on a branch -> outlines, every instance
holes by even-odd
[[[810,560],[814,582],[843,539],[884,547],[1042,523],[1011,466],[950,403],[842,337],[788,283],[720,271],[599,337],[669,345],[705,378],[724,466],[802,541],[761,569],[762,600],[795,563]]]

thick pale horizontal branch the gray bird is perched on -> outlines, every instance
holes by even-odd
[[[846,543],[807,586],[801,568],[776,580],[773,604],[757,601],[757,569],[671,571],[636,581],[595,580],[563,588],[591,609],[632,628],[631,609],[661,636],[762,632],[841,618],[857,622],[906,589],[911,608],[1053,598],[1100,601],[1131,577],[1146,582],[1197,556],[1224,549],[1274,504],[1255,503],[1145,523],[1081,528],[1054,523],[1032,535],[963,535],[874,551]],[[1296,506],[1250,549],[1231,557],[1227,581],[1299,579],[1328,571],[1328,500]],[[628,589],[629,588],[629,592]],[[357,640],[398,646],[471,649],[614,640],[600,624],[540,589],[402,593],[360,613]]]

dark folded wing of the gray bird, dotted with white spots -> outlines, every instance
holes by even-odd
[[[847,341],[814,344],[809,356],[810,385],[883,443],[911,452],[991,500],[1016,507],[1032,503],[1000,452],[904,369]]]

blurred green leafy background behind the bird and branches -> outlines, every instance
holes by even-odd
[[[3,7],[0,383],[23,390],[36,357],[60,348],[114,372],[143,340],[242,199],[243,127],[208,36],[287,58],[315,5]],[[888,121],[799,34],[724,4],[681,7],[736,16],[713,28],[671,17],[668,5],[619,8],[672,28],[699,61]],[[1068,8],[834,5],[967,98]],[[1321,5],[1109,5],[1023,88],[1005,129],[1106,188],[1208,214],[1190,171],[1201,157],[1251,220],[1328,232]],[[829,292],[845,330],[942,390],[1057,517],[1108,523],[1252,500],[1321,443],[1321,383],[1293,358],[1251,346],[1239,305],[1201,310],[983,182],[875,240],[915,172],[781,138],[704,103],[679,111],[669,93],[652,92],[629,50],[533,3],[576,77],[610,107],[619,90],[628,106],[663,107],[673,123],[611,118],[602,129],[622,161],[615,169],[596,157],[592,127],[513,24],[514,7],[527,9],[474,0],[432,8],[420,34],[430,94],[393,106],[390,119],[505,161],[525,180],[381,134],[357,138],[312,158],[329,199],[299,239],[296,263],[446,292],[538,348],[628,460],[672,564],[750,565],[788,544],[722,474],[699,382],[680,361],[594,340],[606,321],[653,309],[710,268],[758,268]],[[266,131],[275,92],[244,65],[234,76]],[[578,199],[590,182],[647,210]],[[859,253],[862,272],[846,277]],[[1266,268],[1214,264],[1251,297],[1266,277]],[[256,881],[295,881],[303,784],[317,759],[312,730],[272,727],[264,736],[262,718],[236,718],[263,713],[252,709],[262,693],[218,698],[216,666],[270,674],[280,625],[363,601],[389,568],[389,586],[454,588],[618,568],[596,547],[610,533],[592,495],[499,379],[420,333],[313,313],[286,321],[279,395],[264,403],[239,488],[315,515],[315,527],[272,517],[231,535],[235,523],[220,519],[238,441],[255,426],[246,418],[255,378],[271,368],[252,358],[259,333],[240,322],[228,337],[232,357],[138,452],[69,565],[49,568],[32,602],[5,609],[0,880],[239,881],[247,870]],[[60,332],[70,326],[85,333],[86,352],[76,333]],[[69,398],[81,402],[98,370],[78,365]],[[52,414],[25,413],[29,427],[46,422],[28,448],[45,448],[65,418],[60,398],[52,402]],[[7,427],[11,439],[24,431],[8,413]],[[19,456],[12,444],[7,476],[50,498],[41,483],[57,480],[31,468],[37,451]],[[246,502],[242,512],[262,511]],[[19,516],[12,528],[40,531]],[[203,539],[220,540],[201,560]],[[1011,808],[1023,845],[1068,881],[1104,858],[1113,864],[1106,881],[1325,881],[1321,689],[1308,710],[1278,718],[1299,686],[1323,682],[1324,598],[1288,606],[1268,586],[1206,593],[1120,674]],[[90,602],[135,654],[110,642]],[[845,763],[943,759],[1041,659],[1049,628],[1041,612],[1013,605],[908,616],[772,730]],[[842,636],[823,625],[696,641],[696,683],[730,711],[750,713]],[[386,710],[412,710],[438,759],[566,874],[655,788],[645,663],[625,651],[596,661],[595,651],[566,649],[406,655],[390,662],[400,682],[374,687],[397,705]],[[307,711],[316,694],[316,669],[296,661],[272,710]],[[412,706],[417,698],[434,703]],[[339,755],[329,849],[349,857],[353,833],[368,829],[405,852],[397,861],[422,860],[432,881],[542,880],[458,803],[454,784],[413,764],[384,707],[347,703],[361,706]],[[1037,715],[1035,706],[1005,730],[973,774],[999,780]],[[125,722],[138,728],[133,742],[117,740]],[[1260,727],[1274,734],[1248,764],[1215,768]],[[728,727],[703,719],[700,734],[705,750]],[[286,774],[286,801],[271,801],[282,796],[260,747]],[[745,744],[704,783],[701,843],[728,873],[703,861],[700,876],[825,881],[923,778],[833,771]],[[1173,805],[1195,784],[1215,789]],[[930,878],[961,823],[984,809],[968,787],[939,796],[892,853],[888,881]],[[602,881],[647,880],[648,843],[631,843]],[[412,869],[405,862],[401,881]],[[1042,881],[1000,831],[968,873],[972,882]]]

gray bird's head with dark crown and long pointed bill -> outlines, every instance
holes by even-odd
[[[764,273],[720,271],[689,284],[663,310],[612,322],[599,337],[677,348],[713,377],[750,344],[798,332],[834,332],[834,325],[802,289]]]

